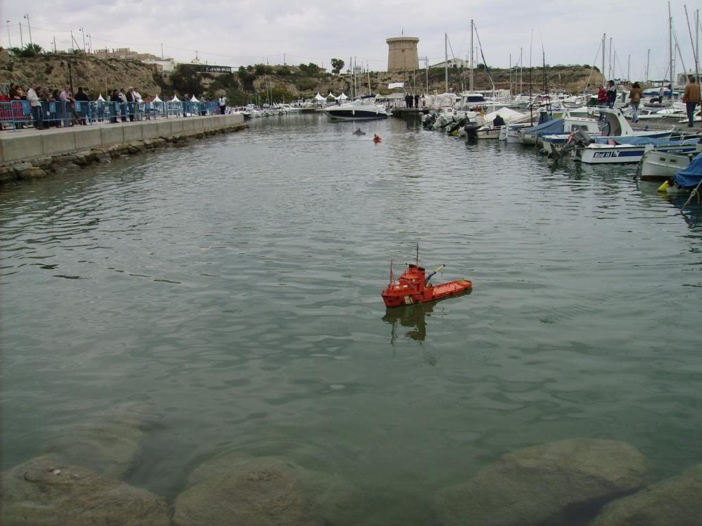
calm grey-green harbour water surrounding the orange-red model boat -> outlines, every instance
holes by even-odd
[[[172,499],[217,452],[274,454],[405,525],[536,443],[702,461],[698,208],[635,166],[355,128],[259,119],[1,189],[2,467],[133,402],[159,423],[135,485]],[[472,293],[386,313],[415,243]]]

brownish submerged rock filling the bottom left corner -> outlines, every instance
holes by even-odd
[[[79,466],[37,457],[1,476],[3,526],[168,526],[164,499]]]

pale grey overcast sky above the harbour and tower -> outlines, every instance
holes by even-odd
[[[665,76],[668,65],[668,4],[662,0],[350,0],[297,4],[280,0],[54,0],[47,4],[0,0],[1,20],[10,21],[13,46],[20,43],[20,22],[25,44],[29,41],[27,19],[23,18],[28,14],[32,40],[45,48],[53,47],[54,37],[59,49],[70,48],[72,29],[81,47],[84,34],[91,36],[88,45],[92,41],[93,49],[128,46],[161,55],[163,43],[166,57],[184,62],[192,60],[196,50],[200,60],[235,67],[266,61],[282,64],[285,53],[288,64],[317,62],[329,68],[333,57],[342,58],[348,65],[349,57],[355,56],[371,70],[384,70],[388,65],[385,39],[400,36],[403,31],[420,39],[419,55],[427,56],[430,64],[444,60],[444,33],[449,34],[449,58],[465,58],[470,53],[473,18],[486,62],[493,67],[508,66],[510,53],[512,64],[517,62],[520,47],[527,67],[532,30],[531,60],[535,66],[542,62],[542,43],[550,65],[591,65],[595,55],[597,65],[601,65],[598,48],[603,33],[607,33],[608,46],[609,38],[613,39],[617,77],[627,76],[630,55],[630,75],[642,79],[649,48],[651,78]],[[684,64],[691,69],[694,60],[685,5],[683,1],[671,2]],[[694,10],[700,8],[702,1],[687,1],[693,38]],[[6,22],[0,41],[7,46]],[[676,71],[681,70],[677,59]]]

